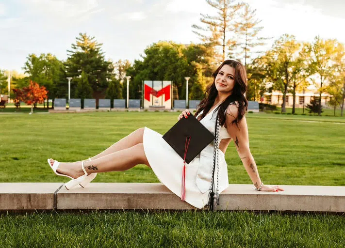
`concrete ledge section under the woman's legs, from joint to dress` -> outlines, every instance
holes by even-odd
[[[194,209],[163,184],[90,183],[85,188],[62,187],[57,209]]]

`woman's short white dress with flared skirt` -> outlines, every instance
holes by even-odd
[[[216,114],[218,111],[214,111],[216,108],[217,106],[215,106],[211,112],[200,120],[200,123],[203,124],[211,133],[214,133]],[[201,113],[202,111],[199,113],[199,115]],[[170,147],[168,143],[166,143],[162,136],[163,135],[145,126],[143,136],[144,152],[150,167],[156,174],[159,181],[181,198],[183,159]],[[221,126],[219,131],[219,140],[227,138],[230,138],[230,134],[224,126]],[[218,192],[221,193],[229,186],[228,166],[225,161],[224,153],[219,149],[218,152]],[[197,171],[199,165],[204,165],[204,167],[209,169],[210,172],[212,171],[213,154],[214,141],[212,141],[204,150],[202,150],[200,154],[198,154],[189,164],[186,163],[185,201],[197,208],[203,208],[208,204],[208,196],[210,192],[209,188],[211,187],[211,182],[207,178],[199,181],[200,183],[197,186]],[[216,175],[216,173],[217,170],[215,170],[214,175]],[[214,178],[216,178],[216,176]],[[200,190],[200,188],[203,188],[203,190]]]

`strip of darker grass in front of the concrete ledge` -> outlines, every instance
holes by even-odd
[[[252,212],[92,212],[3,215],[8,247],[343,247],[345,218]]]

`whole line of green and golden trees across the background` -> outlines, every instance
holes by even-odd
[[[130,98],[141,98],[143,80],[173,81],[174,99],[184,99],[189,80],[189,98],[201,99],[207,85],[212,82],[212,72],[225,59],[236,59],[247,69],[248,100],[258,100],[263,93],[279,90],[293,95],[295,112],[296,92],[315,85],[321,97],[332,95],[329,104],[344,108],[345,50],[344,44],[334,39],[316,36],[311,43],[299,42],[296,37],[284,34],[274,41],[272,47],[261,51],[269,37],[260,32],[261,20],[256,10],[246,3],[235,0],[206,0],[215,15],[200,14],[200,23],[192,30],[200,38],[198,44],[177,44],[159,41],[144,50],[141,58],[131,64],[128,60],[106,60],[102,44],[95,37],[80,33],[76,42],[67,50],[66,61],[52,54],[29,54],[23,69],[26,77],[13,77],[15,88],[27,87],[30,81],[44,86],[48,98],[68,95],[67,77],[72,77],[71,97],[125,98],[123,81],[131,76]],[[0,91],[5,93],[6,77],[0,71]]]

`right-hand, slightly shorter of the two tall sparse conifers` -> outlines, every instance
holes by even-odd
[[[261,20],[256,18],[256,9],[250,9],[249,4],[246,3],[239,17],[240,22],[237,25],[240,27],[241,36],[243,36],[243,42],[239,43],[242,50],[240,54],[244,56],[246,66],[247,59],[251,57],[252,48],[263,46],[265,44],[263,41],[267,40],[267,38],[258,36],[259,32],[263,30],[263,27],[258,26]]]

